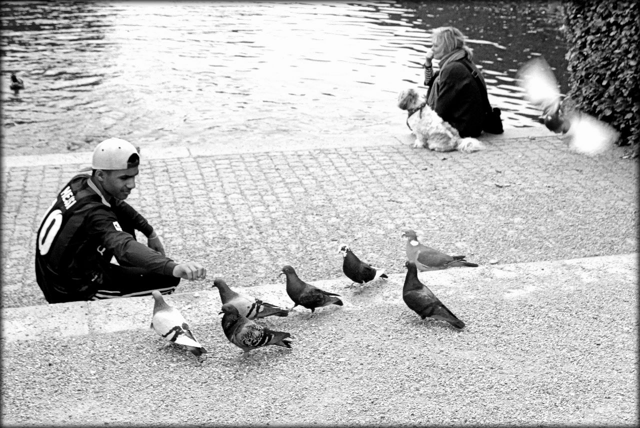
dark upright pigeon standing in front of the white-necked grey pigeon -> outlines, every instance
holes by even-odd
[[[439,321],[447,321],[455,328],[463,328],[465,323],[460,321],[426,285],[420,282],[415,264],[406,261],[404,266],[407,269],[402,289],[404,303],[422,319],[429,317]]]

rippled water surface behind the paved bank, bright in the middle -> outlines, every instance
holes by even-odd
[[[429,30],[474,48],[505,127],[539,112],[515,81],[543,54],[564,85],[559,2],[83,2],[2,6],[3,154],[240,139],[374,138],[403,125]],[[14,95],[9,76],[26,89]]]

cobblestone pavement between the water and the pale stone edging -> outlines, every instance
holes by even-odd
[[[637,162],[621,148],[586,157],[555,136],[503,138],[474,154],[393,144],[272,148],[148,156],[128,202],[176,261],[207,266],[207,289],[342,276],[339,245],[389,273],[404,272],[403,228],[479,264],[632,253]],[[46,303],[35,282],[35,232],[81,162],[3,159],[2,306]],[[145,240],[143,240],[145,242]]]

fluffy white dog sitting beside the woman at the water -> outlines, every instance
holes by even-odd
[[[460,150],[463,153],[476,152],[486,148],[476,138],[460,138],[458,130],[438,116],[438,113],[427,106],[424,95],[419,95],[413,88],[398,94],[398,107],[408,111],[406,124],[415,135],[413,147],[427,147],[437,152]]]

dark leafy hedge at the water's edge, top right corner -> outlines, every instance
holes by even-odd
[[[561,0],[568,42],[567,96],[620,131],[618,145],[640,142],[640,9],[637,1]]]

